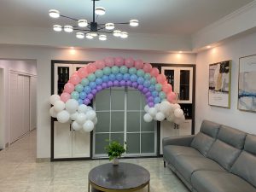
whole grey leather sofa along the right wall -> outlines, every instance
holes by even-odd
[[[164,165],[191,191],[256,192],[256,136],[204,120],[197,135],[162,142]]]

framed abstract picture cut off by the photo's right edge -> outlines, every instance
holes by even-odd
[[[237,108],[242,111],[256,112],[256,55],[239,59]]]

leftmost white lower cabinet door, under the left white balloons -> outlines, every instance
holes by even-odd
[[[72,157],[72,131],[69,123],[54,122],[54,158]]]

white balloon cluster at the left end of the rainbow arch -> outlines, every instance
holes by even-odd
[[[83,129],[90,132],[97,123],[96,112],[93,108],[84,104],[79,105],[79,102],[75,99],[69,99],[65,103],[61,101],[60,96],[52,95],[49,97],[49,102],[53,105],[49,109],[50,116],[57,118],[61,123],[73,120],[72,128],[75,131]]]

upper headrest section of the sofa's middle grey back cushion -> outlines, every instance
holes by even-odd
[[[238,131],[225,125],[221,125],[218,131],[219,140],[239,149],[243,148],[246,136],[245,132]]]

